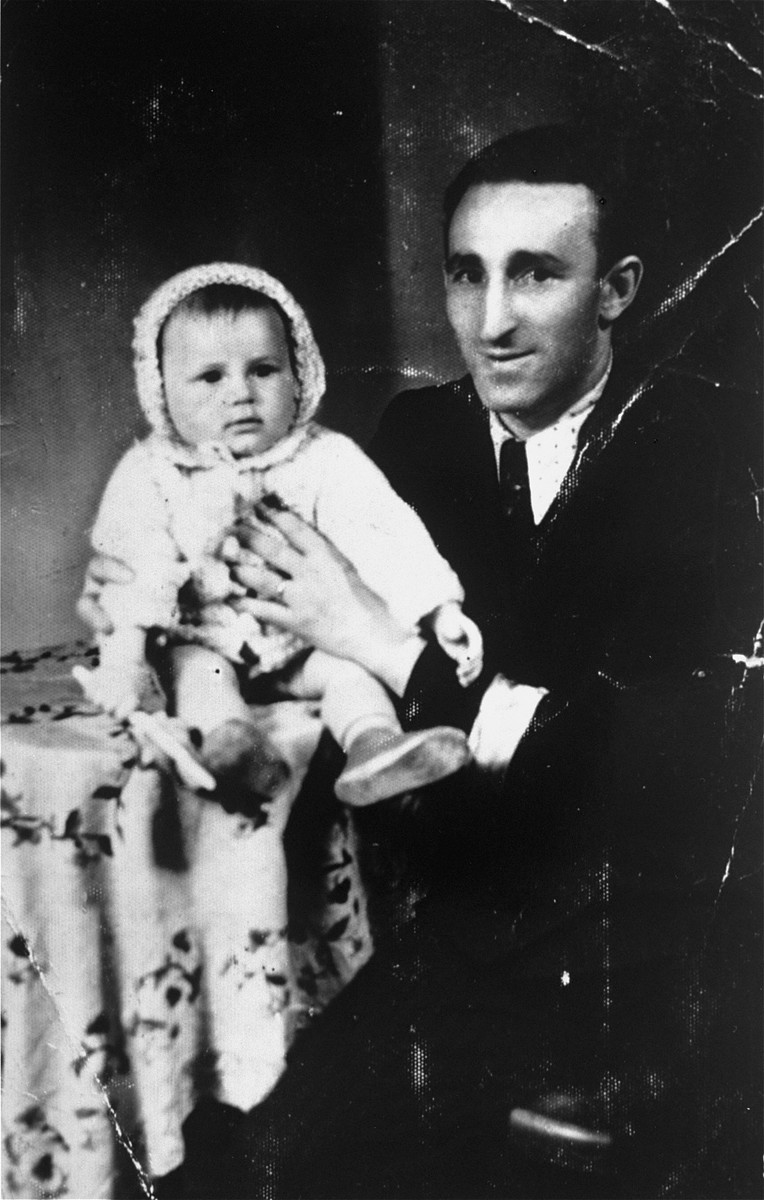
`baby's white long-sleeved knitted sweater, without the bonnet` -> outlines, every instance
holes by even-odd
[[[118,629],[160,626],[253,673],[284,666],[303,643],[235,612],[228,568],[215,557],[236,516],[266,492],[324,533],[407,626],[463,599],[420,518],[355,443],[314,422],[296,442],[290,457],[264,468],[222,455],[200,466],[157,434],[127,451],[92,532],[96,551],[136,572],[101,594]]]

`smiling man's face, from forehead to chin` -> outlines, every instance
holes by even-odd
[[[583,184],[481,184],[453,214],[449,320],[481,401],[510,425],[543,428],[604,371],[596,220]]]

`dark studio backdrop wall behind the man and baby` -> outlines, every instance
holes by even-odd
[[[672,204],[631,350],[754,388],[760,41],[748,0],[6,4],[4,646],[79,631],[86,529],[142,432],[148,293],[221,258],[283,278],[326,358],[325,420],[365,442],[402,385],[461,370],[440,193],[507,128],[639,131]]]

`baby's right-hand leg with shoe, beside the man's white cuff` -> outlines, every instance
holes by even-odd
[[[324,724],[348,756],[335,786],[345,804],[375,804],[425,787],[469,760],[461,730],[403,733],[386,689],[355,662],[314,650],[302,682],[323,695]]]

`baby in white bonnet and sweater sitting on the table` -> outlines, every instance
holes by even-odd
[[[236,606],[243,589],[224,544],[239,518],[257,520],[255,505],[276,494],[407,626],[438,637],[463,683],[482,666],[459,581],[419,517],[355,443],[315,422],[324,364],[294,298],[255,268],[192,268],[146,301],[133,349],[152,432],[114,470],[92,545],[134,578],[100,592],[114,628],[101,638],[90,695],[119,718],[145,707],[146,634],[158,628],[175,715],[224,803],[267,794],[279,780],[245,698],[255,677],[272,682],[273,698],[321,696],[321,719],[347,755],[336,784],[345,803],[372,804],[458,770],[469,758],[459,730],[403,733],[387,691],[365,670]]]

